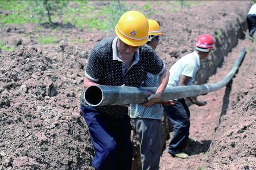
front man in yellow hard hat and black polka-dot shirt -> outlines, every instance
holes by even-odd
[[[90,52],[85,70],[84,87],[141,86],[147,73],[159,75],[156,93],[144,105],[159,101],[167,86],[169,73],[150,46],[148,22],[138,11],[125,12],[115,26],[117,37],[106,37]],[[124,99],[125,100],[125,99]],[[89,128],[95,156],[95,169],[131,169],[133,156],[128,107],[105,105],[89,107],[81,100],[82,114]]]

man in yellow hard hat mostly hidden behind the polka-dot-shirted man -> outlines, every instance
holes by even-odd
[[[148,42],[152,49],[156,49],[163,33],[158,22],[148,19]],[[147,73],[143,87],[158,87],[158,76]],[[161,120],[163,107],[153,104],[151,107],[143,107],[139,104],[131,104],[130,117],[133,118],[139,134],[142,170],[158,169],[161,148]]]

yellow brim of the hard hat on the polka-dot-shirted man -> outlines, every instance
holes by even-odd
[[[115,25],[115,33],[117,34],[117,37],[121,41],[123,41],[123,42],[125,42],[125,44],[131,45],[131,46],[142,46],[142,45],[146,44],[147,40],[148,40],[148,36],[145,39],[143,39],[143,40],[133,40],[133,39],[130,39],[129,37],[126,37],[126,36],[122,35],[118,31],[117,25]]]

